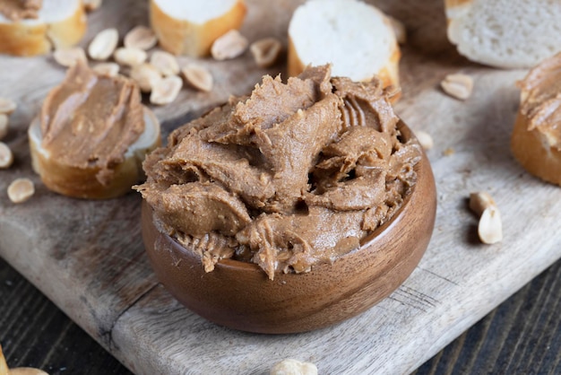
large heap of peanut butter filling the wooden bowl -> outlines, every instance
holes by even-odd
[[[264,76],[177,128],[136,188],[207,272],[229,257],[270,279],[304,273],[358,249],[415,184],[421,151],[397,123],[378,79],[332,78],[329,65],[286,84]]]

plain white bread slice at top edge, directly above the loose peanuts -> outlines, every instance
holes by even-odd
[[[214,40],[239,29],[245,16],[244,0],[150,0],[151,28],[175,55],[209,55]]]

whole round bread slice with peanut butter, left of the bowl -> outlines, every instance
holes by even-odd
[[[138,86],[82,62],[47,94],[28,131],[33,169],[65,196],[122,196],[142,178],[144,155],[160,145],[160,124]]]

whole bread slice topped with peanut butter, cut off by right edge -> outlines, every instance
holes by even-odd
[[[534,176],[561,186],[561,53],[518,83],[521,105],[511,137],[514,158]]]

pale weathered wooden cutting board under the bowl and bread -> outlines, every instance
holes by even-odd
[[[248,0],[242,32],[285,42],[297,0]],[[403,96],[397,113],[435,141],[428,152],[438,189],[438,212],[425,257],[391,296],[357,318],[298,335],[266,336],[215,326],[183,308],[157,282],[144,255],[140,196],[84,201],[58,196],[30,169],[26,129],[64,70],[52,57],[0,57],[0,96],[17,100],[4,140],[15,153],[0,170],[0,256],[138,374],[264,374],[285,358],[315,362],[321,373],[406,373],[483,317],[561,257],[556,237],[561,190],[524,172],[509,152],[518,107],[514,82],[524,71],[501,71],[460,57],[445,37],[442,0],[375,1],[404,22]],[[147,23],[145,2],[105,2],[89,16],[88,35],[117,27],[122,35]],[[193,59],[182,57],[185,64]],[[186,120],[251,90],[262,74],[285,76],[285,66],[258,69],[249,53],[226,62],[203,60],[214,75],[211,93],[184,89],[156,108],[166,134]],[[469,100],[446,96],[445,74],[475,80]],[[13,205],[8,184],[30,177],[37,192]],[[487,190],[501,210],[505,240],[477,239],[467,196]],[[3,301],[2,303],[9,303]]]

